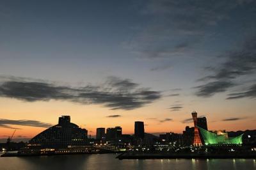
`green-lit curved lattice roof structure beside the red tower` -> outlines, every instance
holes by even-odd
[[[203,138],[204,143],[207,144],[243,144],[243,134],[237,137],[226,137],[225,135],[217,135],[212,132],[205,130],[204,128],[198,127]]]

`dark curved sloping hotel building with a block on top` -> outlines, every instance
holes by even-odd
[[[29,141],[41,148],[68,148],[88,144],[88,131],[70,123],[70,116],[61,116],[58,125],[47,128]]]

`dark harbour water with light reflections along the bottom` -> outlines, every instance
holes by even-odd
[[[256,169],[255,159],[152,159],[118,160],[115,154],[0,157],[1,170],[75,169]]]

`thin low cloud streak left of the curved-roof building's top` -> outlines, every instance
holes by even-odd
[[[13,129],[20,129],[15,128],[10,125],[19,125],[19,126],[27,126],[27,127],[52,127],[50,123],[43,123],[41,121],[36,120],[6,120],[6,119],[0,119],[0,127],[3,128],[13,128]]]

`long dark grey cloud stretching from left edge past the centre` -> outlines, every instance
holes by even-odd
[[[66,100],[79,104],[103,104],[111,109],[131,110],[143,107],[161,98],[160,91],[139,88],[129,79],[108,77],[100,86],[68,87],[51,82],[10,79],[0,84],[0,97],[16,98],[26,102]]]

